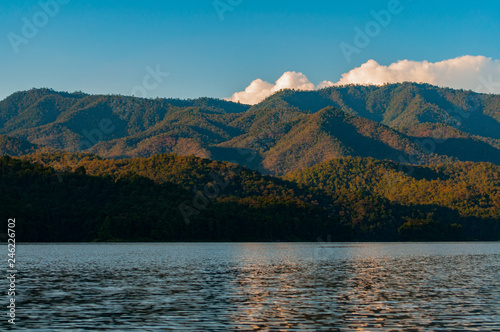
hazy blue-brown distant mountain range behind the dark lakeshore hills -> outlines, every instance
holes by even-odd
[[[282,90],[249,106],[33,89],[0,102],[0,152],[176,153],[284,175],[345,156],[500,165],[500,96],[402,83]]]

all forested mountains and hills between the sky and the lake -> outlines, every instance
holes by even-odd
[[[19,241],[500,240],[500,96],[401,83],[253,106],[32,89],[0,101]]]

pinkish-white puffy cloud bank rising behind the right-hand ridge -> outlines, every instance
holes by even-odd
[[[286,72],[274,84],[257,79],[245,91],[228,100],[257,104],[281,89],[314,90],[334,85],[417,82],[466,89],[476,92],[500,93],[500,61],[484,56],[462,56],[441,62],[401,60],[389,66],[369,60],[342,75],[337,83],[324,81],[315,86],[302,73]]]

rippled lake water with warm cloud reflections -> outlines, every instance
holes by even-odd
[[[19,329],[500,331],[499,243],[16,249]]]

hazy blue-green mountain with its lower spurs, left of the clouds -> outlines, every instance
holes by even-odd
[[[223,123],[248,108],[211,98],[153,100],[33,89],[0,102],[0,134],[71,150],[88,148],[79,143],[90,141],[89,136],[94,138],[90,145],[123,138],[144,140],[159,134],[217,143],[229,138]],[[110,123],[112,130],[101,136],[95,130],[100,129],[103,120]],[[234,128],[228,130],[230,135],[235,134]]]

